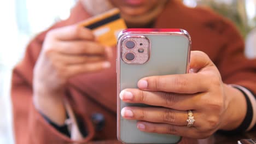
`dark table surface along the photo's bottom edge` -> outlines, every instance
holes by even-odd
[[[225,143],[225,144],[234,144],[237,143],[238,140],[241,139],[251,139],[253,137],[256,137],[256,131],[251,131],[249,133],[245,134],[237,134],[232,136],[226,136],[221,134],[214,134],[211,137],[203,140],[195,140],[195,139],[187,139],[183,137],[182,141],[179,144],[205,144],[205,143]],[[96,141],[96,142],[90,142],[89,144],[120,144],[121,142],[117,140],[106,140],[106,141]]]

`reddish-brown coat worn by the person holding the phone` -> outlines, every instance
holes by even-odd
[[[78,3],[71,11],[69,19],[56,23],[50,29],[71,25],[88,17],[90,14]],[[245,58],[243,40],[231,22],[211,10],[191,9],[179,2],[170,1],[155,20],[153,27],[186,29],[191,35],[192,50],[206,52],[217,65],[225,83],[241,85],[256,93],[256,59],[249,61]],[[45,122],[32,103],[33,67],[48,31],[49,29],[31,41],[25,57],[13,70],[11,98],[16,143],[71,142],[68,137]],[[110,69],[79,75],[69,82],[66,97],[89,131],[83,142],[117,139],[115,58],[110,62]],[[93,113],[102,113],[106,118],[105,127],[97,133],[90,121]]]

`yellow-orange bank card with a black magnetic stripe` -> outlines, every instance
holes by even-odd
[[[81,25],[91,29],[97,41],[106,46],[116,45],[119,32],[127,28],[117,8],[90,17]]]

